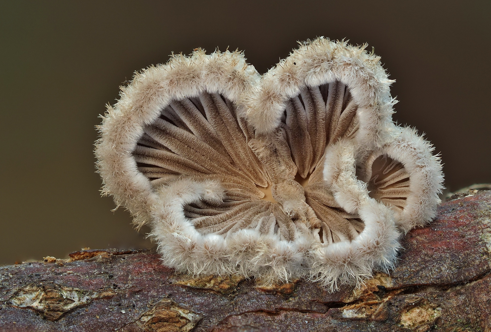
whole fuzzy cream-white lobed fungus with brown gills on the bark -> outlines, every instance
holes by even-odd
[[[442,189],[433,147],[392,122],[392,82],[378,56],[322,37],[263,76],[239,52],[174,55],[104,115],[103,192],[180,272],[360,282]]]

